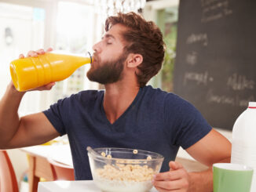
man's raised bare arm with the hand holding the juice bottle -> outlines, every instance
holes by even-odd
[[[38,52],[31,51],[27,55],[37,56],[44,53],[41,49]],[[20,55],[20,58],[23,57]],[[54,83],[49,83],[36,90],[49,90],[53,85]],[[43,113],[19,118],[18,108],[24,94],[25,92],[16,91],[13,82],[10,82],[5,95],[0,100],[0,149],[41,144],[59,136]]]

